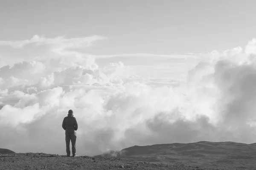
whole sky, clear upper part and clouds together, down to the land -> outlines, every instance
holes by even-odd
[[[1,148],[256,141],[253,0],[0,1]]]

